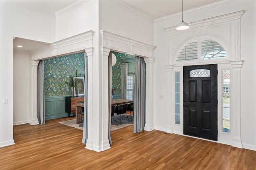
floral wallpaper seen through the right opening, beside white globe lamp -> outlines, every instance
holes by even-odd
[[[116,64],[112,66],[112,87],[116,87],[115,93],[121,93],[121,62],[124,58],[132,58],[135,55],[118,53],[112,51],[116,55]]]

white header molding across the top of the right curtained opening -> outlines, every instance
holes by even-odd
[[[139,42],[112,32],[100,30],[102,47],[111,48],[113,51],[121,51],[141,57],[153,57],[156,46]]]

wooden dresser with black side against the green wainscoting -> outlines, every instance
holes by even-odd
[[[80,97],[66,96],[65,112],[68,113],[68,116],[71,117],[70,115],[71,113],[73,114],[72,117],[75,116],[77,102],[84,102],[84,96],[80,96]]]

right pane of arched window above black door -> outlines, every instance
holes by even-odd
[[[227,58],[225,49],[213,40],[201,41],[201,59]]]

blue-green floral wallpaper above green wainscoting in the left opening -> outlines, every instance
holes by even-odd
[[[84,52],[44,60],[44,96],[71,95],[70,76],[84,73]]]

